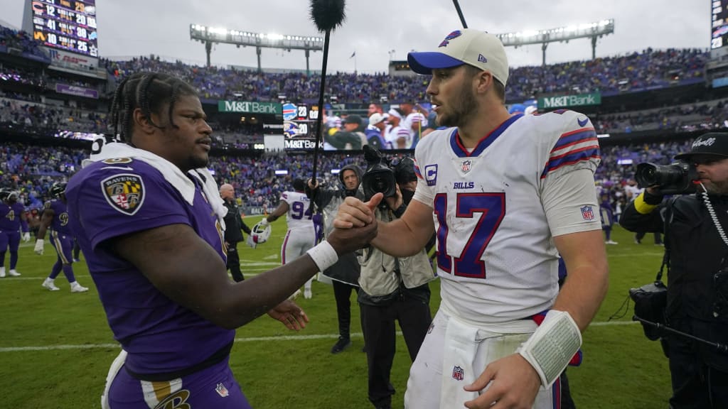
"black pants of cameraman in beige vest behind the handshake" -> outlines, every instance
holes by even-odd
[[[390,408],[395,388],[389,381],[395,360],[399,321],[410,359],[414,361],[432,322],[430,305],[414,298],[399,298],[384,306],[359,304],[366,345],[369,401],[375,408]]]

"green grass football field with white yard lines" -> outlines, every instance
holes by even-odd
[[[259,218],[246,219],[249,226]],[[273,224],[269,242],[250,249],[240,245],[244,274],[258,274],[280,264],[285,221]],[[574,400],[584,409],[665,409],[670,397],[668,361],[657,342],[648,341],[639,325],[625,317],[609,320],[630,287],[654,279],[662,247],[648,236],[641,245],[617,227],[609,246],[610,287],[584,339],[584,362],[569,368]],[[90,291],[70,293],[63,274],[60,291],[41,287],[55,262],[33,253],[32,242],[20,249],[22,277],[0,279],[0,408],[99,408],[108,366],[119,353],[111,337],[86,264],[74,263],[79,282]],[[6,255],[5,266],[9,263]],[[432,284],[432,311],[439,303],[439,284]],[[232,369],[256,409],[371,408],[367,400],[366,360],[359,309],[352,295],[352,346],[329,352],[336,341],[336,303],[330,286],[314,282],[314,297],[298,299],[311,323],[290,332],[269,317],[240,328],[232,350]],[[410,362],[400,337],[392,370],[397,389],[394,408],[402,408]]]

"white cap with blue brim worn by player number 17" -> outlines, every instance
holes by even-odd
[[[503,85],[508,81],[508,57],[503,43],[491,33],[461,28],[449,33],[438,51],[410,52],[407,62],[417,74],[432,74],[438,68],[468,64],[491,74]]]

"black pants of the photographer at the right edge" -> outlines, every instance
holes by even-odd
[[[700,338],[710,331],[707,325],[688,318],[670,319],[670,326]],[[710,348],[687,338],[670,335],[668,351],[673,385],[670,408],[728,408],[728,371],[715,368],[716,363],[724,363],[726,357]]]

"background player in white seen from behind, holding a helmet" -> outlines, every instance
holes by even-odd
[[[284,191],[280,195],[280,204],[276,210],[273,210],[273,213],[263,219],[263,224],[267,225],[269,222],[276,221],[280,216],[286,215],[285,221],[288,223],[288,231],[280,248],[280,258],[283,264],[306,254],[306,251],[316,245],[310,200],[304,193],[305,186],[304,180],[293,180],[293,189],[295,191]],[[312,297],[312,281],[313,277],[304,285],[305,298]]]

